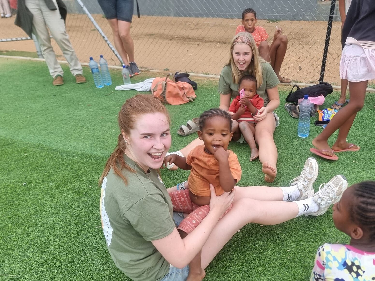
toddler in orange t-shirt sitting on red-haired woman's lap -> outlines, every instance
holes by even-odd
[[[210,184],[219,196],[230,192],[241,179],[242,171],[237,155],[228,150],[232,136],[229,114],[221,109],[210,109],[199,117],[198,137],[204,144],[196,146],[187,158],[177,154],[169,154],[164,158],[164,165],[174,163],[183,170],[191,170],[187,184],[179,184],[177,191],[169,192],[173,211],[189,213],[177,227],[182,238],[192,232],[210,211]],[[187,280],[202,280],[204,276],[199,251],[189,263]]]

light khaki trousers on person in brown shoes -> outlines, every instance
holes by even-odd
[[[57,7],[56,0],[53,0],[53,2]],[[33,13],[33,34],[39,42],[51,76],[55,77],[58,74],[63,76],[64,72],[56,60],[47,27],[53,39],[62,50],[65,59],[68,61],[70,72],[74,76],[82,74],[82,66],[69,41],[64,20],[61,18],[58,8],[53,11],[48,9],[44,0],[26,0],[25,3],[30,12]]]

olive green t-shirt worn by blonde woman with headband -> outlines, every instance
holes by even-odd
[[[270,89],[279,85],[279,78],[276,73],[273,71],[272,66],[269,63],[261,63],[262,65],[262,76],[263,76],[263,83],[262,85],[258,85],[257,94],[264,99],[264,106],[267,105],[269,102],[268,95],[266,89]],[[243,72],[243,75],[248,75],[249,72]],[[238,84],[233,82],[232,78],[232,68],[231,66],[224,66],[220,73],[219,78],[219,87],[218,91],[220,94],[227,95],[231,94],[231,97],[234,99],[236,96],[239,95],[238,92]]]

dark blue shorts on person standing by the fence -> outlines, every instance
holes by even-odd
[[[98,0],[106,19],[132,22],[134,0]]]

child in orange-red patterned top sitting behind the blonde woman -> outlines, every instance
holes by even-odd
[[[282,34],[282,28],[276,26],[275,35],[271,46],[268,45],[267,31],[261,26],[255,26],[257,24],[257,12],[254,9],[246,9],[242,12],[242,22],[236,28],[236,34],[239,32],[250,32],[255,39],[257,44],[259,55],[268,61],[273,71],[282,83],[290,83],[291,79],[282,77],[280,75],[281,65],[284,61],[285,53],[287,52],[288,38]]]

